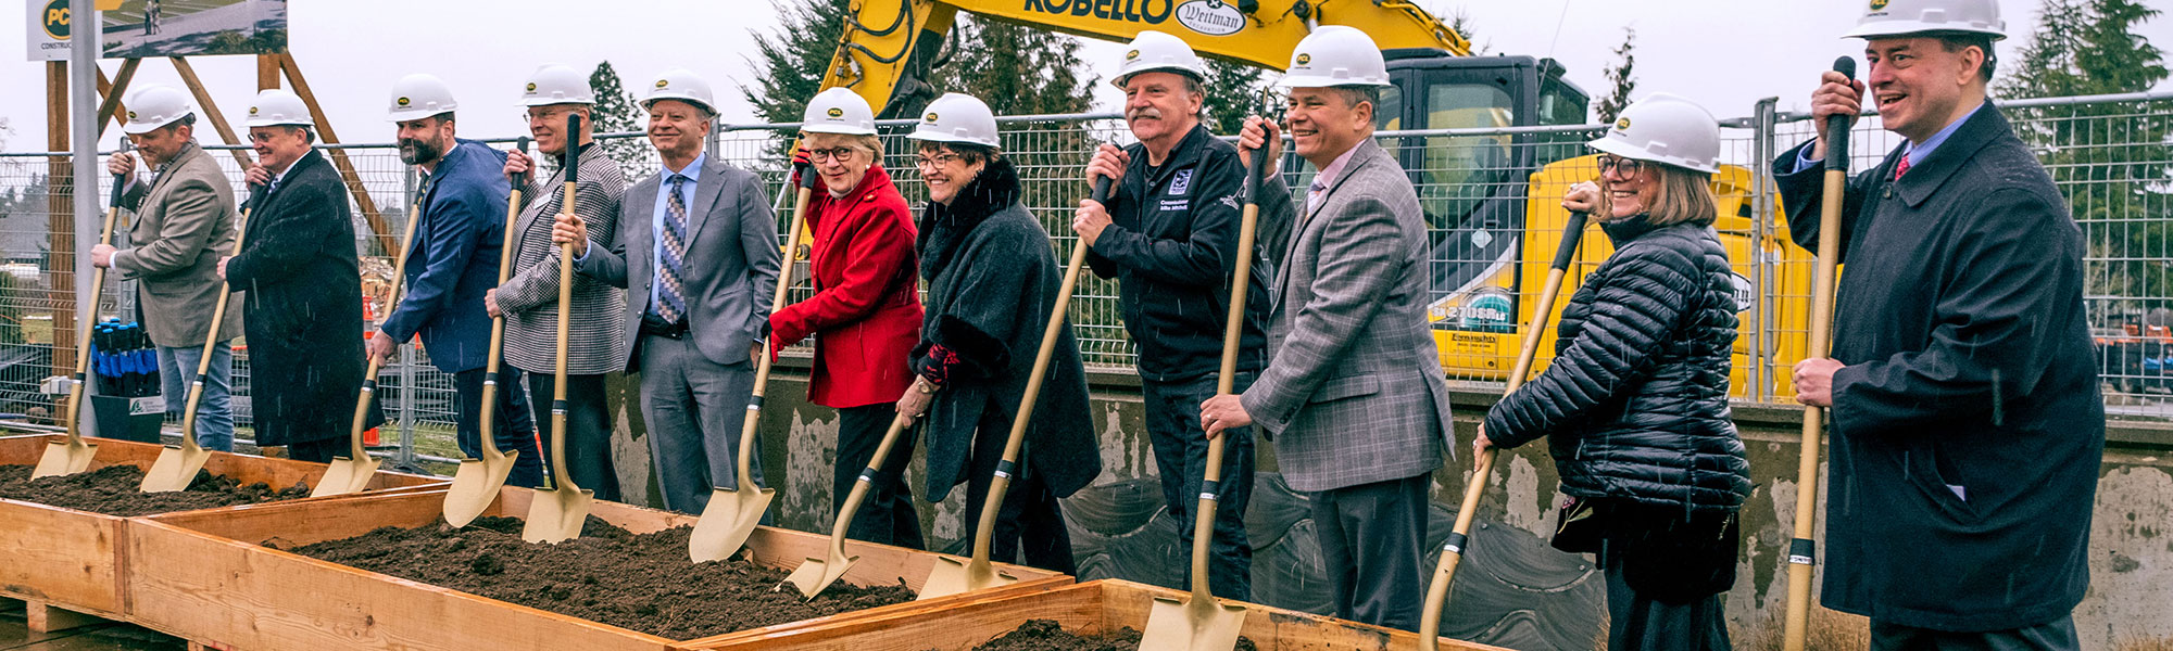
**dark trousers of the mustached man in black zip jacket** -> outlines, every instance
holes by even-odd
[[[1252,386],[1254,373],[1239,373],[1236,393]],[[1154,443],[1154,464],[1163,475],[1163,501],[1178,519],[1178,549],[1191,560],[1193,510],[1199,508],[1199,484],[1206,480],[1208,438],[1199,430],[1199,404],[1215,397],[1217,378],[1154,382],[1141,378],[1139,393],[1147,412],[1147,441]],[[1252,427],[1223,432],[1223,467],[1219,503],[1215,506],[1215,540],[1208,545],[1208,590],[1215,597],[1252,601],[1252,540],[1245,538],[1245,506],[1252,503]],[[1178,573],[1191,586],[1191,562]]]

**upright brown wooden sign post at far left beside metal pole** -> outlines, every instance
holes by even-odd
[[[67,61],[46,63],[46,152],[67,152]],[[76,371],[76,171],[46,161],[46,286],[52,293],[52,375]],[[98,297],[91,297],[91,306]],[[59,414],[54,414],[59,419]]]

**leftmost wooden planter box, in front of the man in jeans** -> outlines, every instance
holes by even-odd
[[[0,436],[0,464],[37,464],[50,441],[61,434]],[[98,456],[91,469],[130,464],[150,469],[159,460],[161,445],[93,438]],[[261,458],[213,451],[204,469],[213,475],[235,477],[241,484],[265,482],[272,488],[296,482],[315,484],[324,475],[324,464]],[[404,475],[380,471],[369,480],[369,490],[413,490],[441,486],[441,477]],[[296,499],[330,501],[350,499]],[[126,556],[128,521],[122,516],[54,508],[33,501],[0,499],[0,597],[22,599],[33,614],[41,608],[59,605],[102,618],[126,618],[128,605],[124,582],[130,571]],[[185,558],[180,562],[187,562]],[[33,621],[37,621],[33,616]]]

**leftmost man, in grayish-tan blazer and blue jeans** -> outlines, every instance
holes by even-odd
[[[109,267],[122,280],[137,282],[137,308],[143,330],[159,345],[159,378],[165,384],[167,414],[180,414],[211,336],[211,312],[219,302],[219,258],[235,250],[235,189],[219,174],[204,148],[196,145],[196,108],[189,95],[174,87],[146,87],[128,98],[128,139],[143,152],[143,163],[159,174],[148,187],[137,182],[135,156],[106,158],[106,169],[122,176],[126,191],[122,208],[135,210],[128,247],[93,245],[91,265]],[[241,297],[226,299],[226,323],[219,323],[211,349],[211,371],[204,375],[202,404],[196,410],[196,445],[235,449],[235,410],[230,375],[241,336]]]

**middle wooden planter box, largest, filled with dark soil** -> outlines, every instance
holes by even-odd
[[[202,644],[241,651],[265,649],[708,649],[741,638],[782,636],[837,621],[941,612],[987,595],[1030,595],[1071,586],[1073,579],[1026,566],[1002,566],[1023,582],[971,595],[908,601],[850,614],[748,629],[700,640],[667,640],[528,605],[476,597],[422,582],[332,564],[261,542],[311,545],[367,534],[378,527],[422,527],[439,519],[443,490],[354,497],[339,503],[261,503],[217,512],[141,519],[128,551],[148,558],[187,558],[141,566],[128,575],[133,621]],[[504,488],[485,514],[528,512],[535,490]],[[635,534],[693,525],[695,516],[595,501],[593,516]],[[797,566],[828,556],[830,538],[761,527],[748,540],[754,560]],[[937,553],[887,545],[847,542],[861,562],[843,582],[871,586],[906,582],[919,590]],[[919,651],[919,649],[915,649]]]

